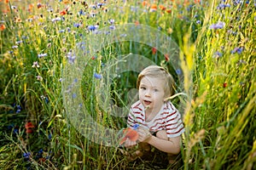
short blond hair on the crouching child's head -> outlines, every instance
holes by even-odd
[[[158,65],[149,65],[137,77],[137,88],[139,88],[143,77],[161,78],[166,82],[164,88],[165,98],[170,97],[174,93],[174,79],[165,68]]]

